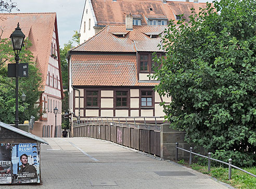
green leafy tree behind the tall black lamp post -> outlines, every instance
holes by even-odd
[[[33,55],[29,50],[31,42],[24,40],[24,47],[20,52],[20,63],[29,63],[29,77],[19,78],[19,121],[29,120],[31,115],[35,120],[39,118],[39,106],[37,100],[41,95],[41,76],[33,62]],[[12,50],[11,41],[0,38],[0,121],[14,123],[16,111],[15,78],[7,77],[7,63],[15,63],[15,54]],[[20,99],[24,93],[27,97],[23,103]]]

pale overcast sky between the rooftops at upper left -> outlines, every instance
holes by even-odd
[[[190,0],[190,2],[192,1]],[[80,29],[85,0],[13,0],[12,2],[17,3],[20,13],[56,12],[61,48],[63,48],[64,43],[71,40],[73,31]],[[207,0],[199,0],[199,2],[207,2]],[[212,0],[208,2],[212,2]],[[22,23],[20,23],[20,27],[22,28]]]

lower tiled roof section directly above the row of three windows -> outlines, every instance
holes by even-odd
[[[138,83],[136,55],[71,55],[72,85],[154,86]]]

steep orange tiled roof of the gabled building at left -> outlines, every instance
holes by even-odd
[[[29,37],[29,40],[32,42],[30,50],[36,60],[36,66],[42,74],[44,90],[55,25],[57,30],[56,13],[0,13],[0,18],[0,28],[3,30],[1,38],[9,38],[10,34],[17,27],[18,22],[25,37]],[[57,33],[58,31],[56,31]],[[56,40],[58,45],[58,39]],[[59,70],[61,70],[60,61]],[[61,83],[61,94],[63,96],[62,91]]]

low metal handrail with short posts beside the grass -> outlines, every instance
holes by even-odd
[[[252,173],[250,173],[250,172],[248,172],[248,171],[246,171],[244,169],[241,169],[241,168],[239,168],[239,167],[237,167],[235,165],[232,165],[231,164],[232,163],[232,158],[229,158],[228,159],[228,163],[226,163],[226,162],[220,161],[219,159],[212,158],[211,157],[211,152],[208,153],[208,157],[207,157],[207,156],[204,156],[204,155],[192,152],[192,150],[193,150],[192,147],[190,147],[189,150],[185,150],[183,148],[180,148],[180,147],[178,147],[178,142],[176,142],[176,147],[175,148],[176,148],[176,154],[175,154],[175,160],[176,161],[178,160],[178,149],[180,149],[180,150],[183,150],[185,152],[189,152],[189,165],[192,164],[192,154],[195,154],[195,155],[198,155],[198,156],[201,156],[201,157],[204,157],[204,158],[208,158],[208,171],[211,170],[211,160],[213,160],[215,162],[219,162],[219,163],[225,164],[225,165],[228,165],[228,180],[231,180],[232,167],[236,168],[236,169],[238,169],[240,171],[243,171],[243,172],[247,173],[248,175],[250,175],[252,177],[256,177],[256,175],[253,175]]]

